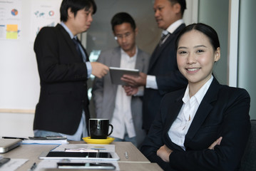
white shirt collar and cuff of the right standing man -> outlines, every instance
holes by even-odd
[[[163,34],[173,33],[183,23],[184,23],[183,19],[175,21],[166,30],[163,31]],[[150,76],[150,75],[147,76],[145,88],[153,88],[156,90],[158,89],[158,84],[156,83],[155,76]]]

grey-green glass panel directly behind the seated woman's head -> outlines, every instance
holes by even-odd
[[[222,84],[227,84],[227,42],[229,0],[200,0],[198,22],[215,28],[220,39],[220,61],[215,63],[214,74]]]

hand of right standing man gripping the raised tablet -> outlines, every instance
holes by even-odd
[[[129,86],[132,87],[145,86],[147,82],[147,74],[140,72],[140,76],[123,75],[121,80],[125,81]]]

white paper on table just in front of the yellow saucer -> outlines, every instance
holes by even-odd
[[[115,145],[102,144],[62,144],[51,151],[65,151],[66,149],[80,149],[99,150],[99,152],[115,152]]]

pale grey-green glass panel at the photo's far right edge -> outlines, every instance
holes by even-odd
[[[256,1],[240,1],[238,87],[245,88],[251,97],[250,116],[256,119]]]

